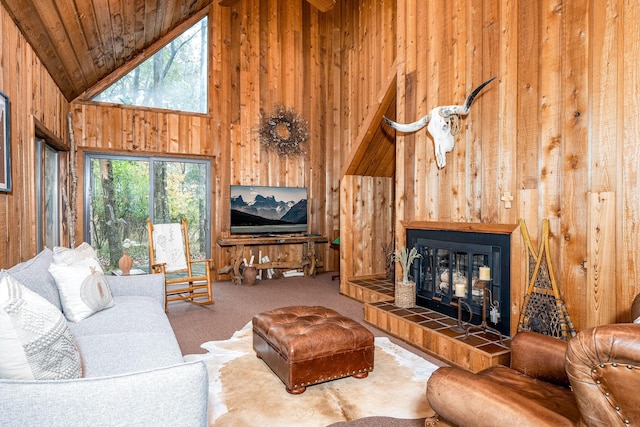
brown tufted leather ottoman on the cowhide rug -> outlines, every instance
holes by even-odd
[[[253,318],[253,349],[289,393],[373,370],[373,334],[325,307],[283,307]]]

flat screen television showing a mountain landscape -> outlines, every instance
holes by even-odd
[[[295,234],[307,230],[306,188],[231,186],[232,234]]]

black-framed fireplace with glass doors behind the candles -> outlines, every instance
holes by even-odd
[[[407,228],[407,247],[422,255],[414,261],[416,305],[510,335],[510,246],[504,233]],[[488,279],[488,280],[481,280]],[[483,288],[485,289],[483,291]],[[457,292],[456,292],[457,291]],[[459,303],[459,301],[462,303]]]

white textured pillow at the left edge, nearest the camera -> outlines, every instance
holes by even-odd
[[[0,280],[0,378],[80,378],[80,353],[53,304],[4,274]]]

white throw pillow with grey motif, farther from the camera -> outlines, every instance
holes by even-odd
[[[113,307],[113,297],[102,267],[95,251],[87,243],[75,249],[53,248],[49,272],[56,281],[62,311],[72,322]]]

